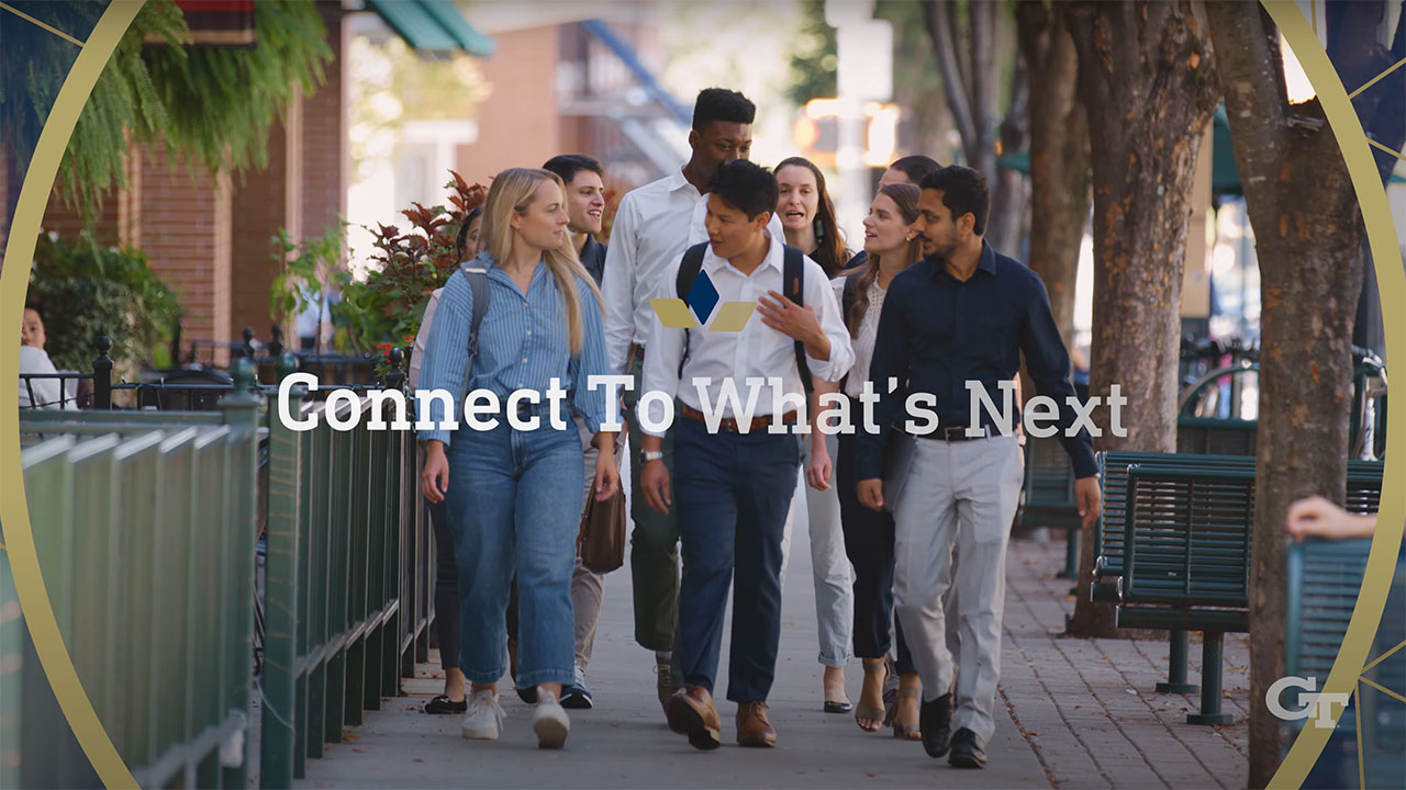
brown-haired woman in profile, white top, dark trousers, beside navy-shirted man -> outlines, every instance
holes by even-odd
[[[879,190],[869,205],[865,218],[865,252],[868,257],[862,267],[832,281],[835,295],[845,311],[845,325],[853,339],[855,367],[841,384],[817,382],[817,396],[835,392],[841,387],[849,396],[849,415],[860,415],[858,402],[869,378],[869,363],[873,358],[875,337],[879,333],[879,315],[883,311],[884,290],[896,274],[922,256],[922,246],[910,231],[918,218],[918,187],[912,184],[889,184]],[[849,298],[845,298],[846,283]],[[865,685],[855,708],[855,721],[860,730],[876,732],[887,717],[883,704],[883,687],[887,675],[890,638],[889,627],[893,619],[893,516],[876,513],[859,503],[855,479],[855,437],[839,434],[839,453],[835,464],[837,488],[839,493],[841,524],[845,536],[845,551],[855,566],[855,655],[863,661]],[[830,475],[831,458],[825,437],[811,432],[811,462],[807,474],[811,485]],[[918,699],[921,686],[918,671],[897,631],[898,641],[898,700],[893,714],[894,735],[907,739],[921,739],[918,732]]]

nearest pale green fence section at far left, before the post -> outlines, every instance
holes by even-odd
[[[143,787],[247,787],[257,408],[245,392],[219,412],[20,420],[31,529],[60,634]],[[13,588],[3,595],[15,600]],[[4,627],[8,654],[27,635]],[[7,694],[6,708],[21,744],[7,732],[0,748],[27,759],[7,765],[0,784],[87,784],[38,661],[17,675],[24,692]]]

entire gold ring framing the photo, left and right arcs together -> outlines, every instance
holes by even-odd
[[[1361,121],[1353,110],[1337,72],[1317,42],[1317,37],[1303,18],[1302,11],[1288,0],[1261,0],[1285,41],[1294,49],[1305,75],[1313,84],[1323,105],[1324,115],[1343,149],[1353,187],[1361,204],[1367,225],[1368,243],[1376,266],[1378,285],[1384,304],[1406,304],[1406,273],[1400,266],[1400,252],[1396,231],[1392,225],[1386,193],[1376,177],[1375,162],[1367,145]],[[14,222],[4,257],[11,266],[0,271],[0,315],[13,315],[22,305],[28,288],[30,260],[49,191],[58,174],[59,162],[73,134],[73,127],[98,76],[111,58],[122,34],[141,10],[145,0],[112,0],[93,28],[87,44],[63,82],[59,96],[49,112],[35,146],[30,169],[24,173],[24,184],[15,205]],[[1347,141],[1344,141],[1347,138]],[[41,187],[42,183],[42,187]],[[24,261],[17,266],[15,261]],[[22,273],[22,278],[21,278]],[[1392,311],[1384,311],[1388,344],[1406,349],[1406,325]],[[18,377],[18,350],[0,346],[0,381]],[[1391,409],[1391,406],[1388,406]],[[1400,422],[1400,420],[1398,420]],[[1403,423],[1406,425],[1406,423]],[[30,526],[28,506],[24,499],[24,477],[18,453],[18,391],[0,387],[0,441],[14,453],[0,453],[0,522],[7,530],[6,554],[15,578],[21,609],[34,640],[39,662],[49,678],[59,706],[67,718],[73,734],[87,755],[98,777],[107,787],[135,787],[132,773],[122,763],[101,721],[83,692],[82,682],[63,645],[53,609],[49,604],[44,579],[39,574],[34,534]],[[1385,481],[1400,478],[1402,462],[1388,461]],[[1385,484],[1384,481],[1384,484]],[[1398,484],[1406,481],[1396,481]],[[1382,506],[1378,514],[1376,538],[1372,543],[1362,595],[1343,649],[1333,663],[1333,671],[1323,686],[1324,692],[1351,693],[1357,686],[1357,675],[1371,649],[1375,627],[1381,621],[1389,589],[1389,574],[1395,564],[1400,526],[1406,524],[1406,502],[1398,493],[1400,485],[1384,485]],[[1270,787],[1298,787],[1308,776],[1327,742],[1329,731],[1309,727],[1301,731]]]

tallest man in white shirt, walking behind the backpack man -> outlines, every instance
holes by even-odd
[[[692,157],[665,179],[645,184],[620,201],[606,252],[600,292],[606,305],[606,356],[619,373],[634,377],[624,394],[630,436],[631,491],[640,491],[640,429],[634,409],[648,358],[648,298],[661,287],[662,273],[679,263],[690,243],[703,240],[703,194],[724,162],[747,159],[752,148],[756,107],[737,91],[710,87],[699,91],[689,132]],[[779,221],[772,221],[780,235]],[[672,283],[672,280],[671,280]],[[664,462],[672,468],[673,432],[664,437]],[[668,701],[679,595],[679,529],[672,513],[655,513],[636,493],[630,506],[630,572],[634,585],[634,638],[655,652],[659,703]]]

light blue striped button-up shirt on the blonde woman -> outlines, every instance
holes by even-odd
[[[605,389],[589,389],[592,375],[606,375],[606,340],[600,304],[591,287],[576,277],[575,298],[581,302],[583,342],[581,354],[572,356],[567,339],[567,305],[557,291],[557,278],[546,261],[537,261],[531,284],[523,294],[488,253],[475,263],[488,270],[488,312],[478,328],[478,357],[474,360],[468,389],[489,389],[506,409],[515,389],[536,389],[547,402],[547,388],[555,377],[562,389],[572,392],[571,405],[595,432],[605,422]],[[434,325],[425,350],[420,389],[444,389],[454,395],[450,416],[463,420],[464,367],[468,364],[468,333],[474,318],[474,294],[463,271],[450,276],[434,311]],[[571,415],[564,413],[568,420]],[[434,399],[429,419],[436,426],[444,419],[444,405]],[[499,419],[503,419],[499,415]],[[547,425],[547,416],[543,417]],[[460,422],[460,430],[472,430]],[[420,430],[420,440],[450,444],[451,432],[439,427]]]

